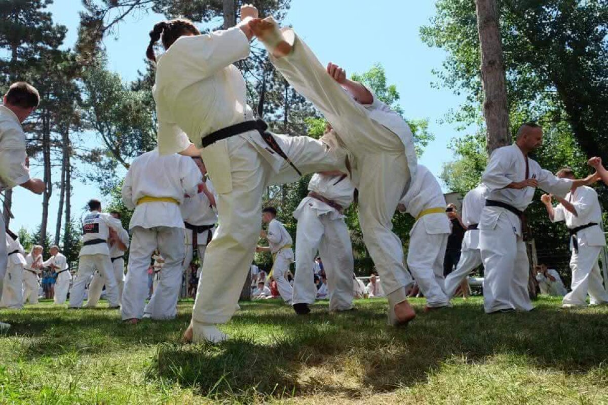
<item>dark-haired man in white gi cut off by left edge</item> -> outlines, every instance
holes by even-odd
[[[17,185],[42,194],[46,185],[40,179],[30,179],[27,167],[26,135],[21,123],[40,103],[38,90],[25,82],[11,84],[0,106],[0,191]],[[6,211],[6,207],[4,210]],[[6,250],[4,216],[0,215],[0,299],[9,257]],[[9,328],[0,322],[0,330]]]

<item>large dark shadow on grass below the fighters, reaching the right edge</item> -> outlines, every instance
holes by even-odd
[[[537,306],[531,313],[484,315],[480,301],[460,302],[395,329],[384,325],[382,302],[339,315],[317,306],[305,317],[277,305],[247,305],[233,327],[273,325],[280,335],[269,342],[244,335],[217,346],[161,345],[147,376],[219,398],[359,396],[426,381],[430,370],[454,356],[483,362],[525,355],[534,366],[566,373],[587,372],[608,359],[608,308]]]

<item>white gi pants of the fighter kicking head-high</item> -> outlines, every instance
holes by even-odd
[[[351,166],[353,183],[359,189],[359,223],[385,293],[412,284],[403,265],[401,240],[392,231],[393,214],[410,181],[403,142],[370,118],[369,111],[327,74],[300,38],[295,38],[289,55],[271,60],[289,84],[325,115],[342,146],[354,157]]]

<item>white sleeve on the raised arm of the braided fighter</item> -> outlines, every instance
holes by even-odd
[[[238,27],[218,30],[210,34],[182,36],[171,46],[184,67],[201,73],[201,78],[212,76],[224,67],[249,56],[249,40]]]

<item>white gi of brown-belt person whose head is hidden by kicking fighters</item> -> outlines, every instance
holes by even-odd
[[[344,209],[353,202],[354,187],[342,175],[315,174],[308,189]],[[293,303],[314,304],[317,298],[313,268],[318,265],[314,260],[318,250],[327,277],[330,311],[350,310],[353,307],[354,258],[344,215],[321,200],[305,197],[295,209],[294,218],[298,220],[298,226]]]

